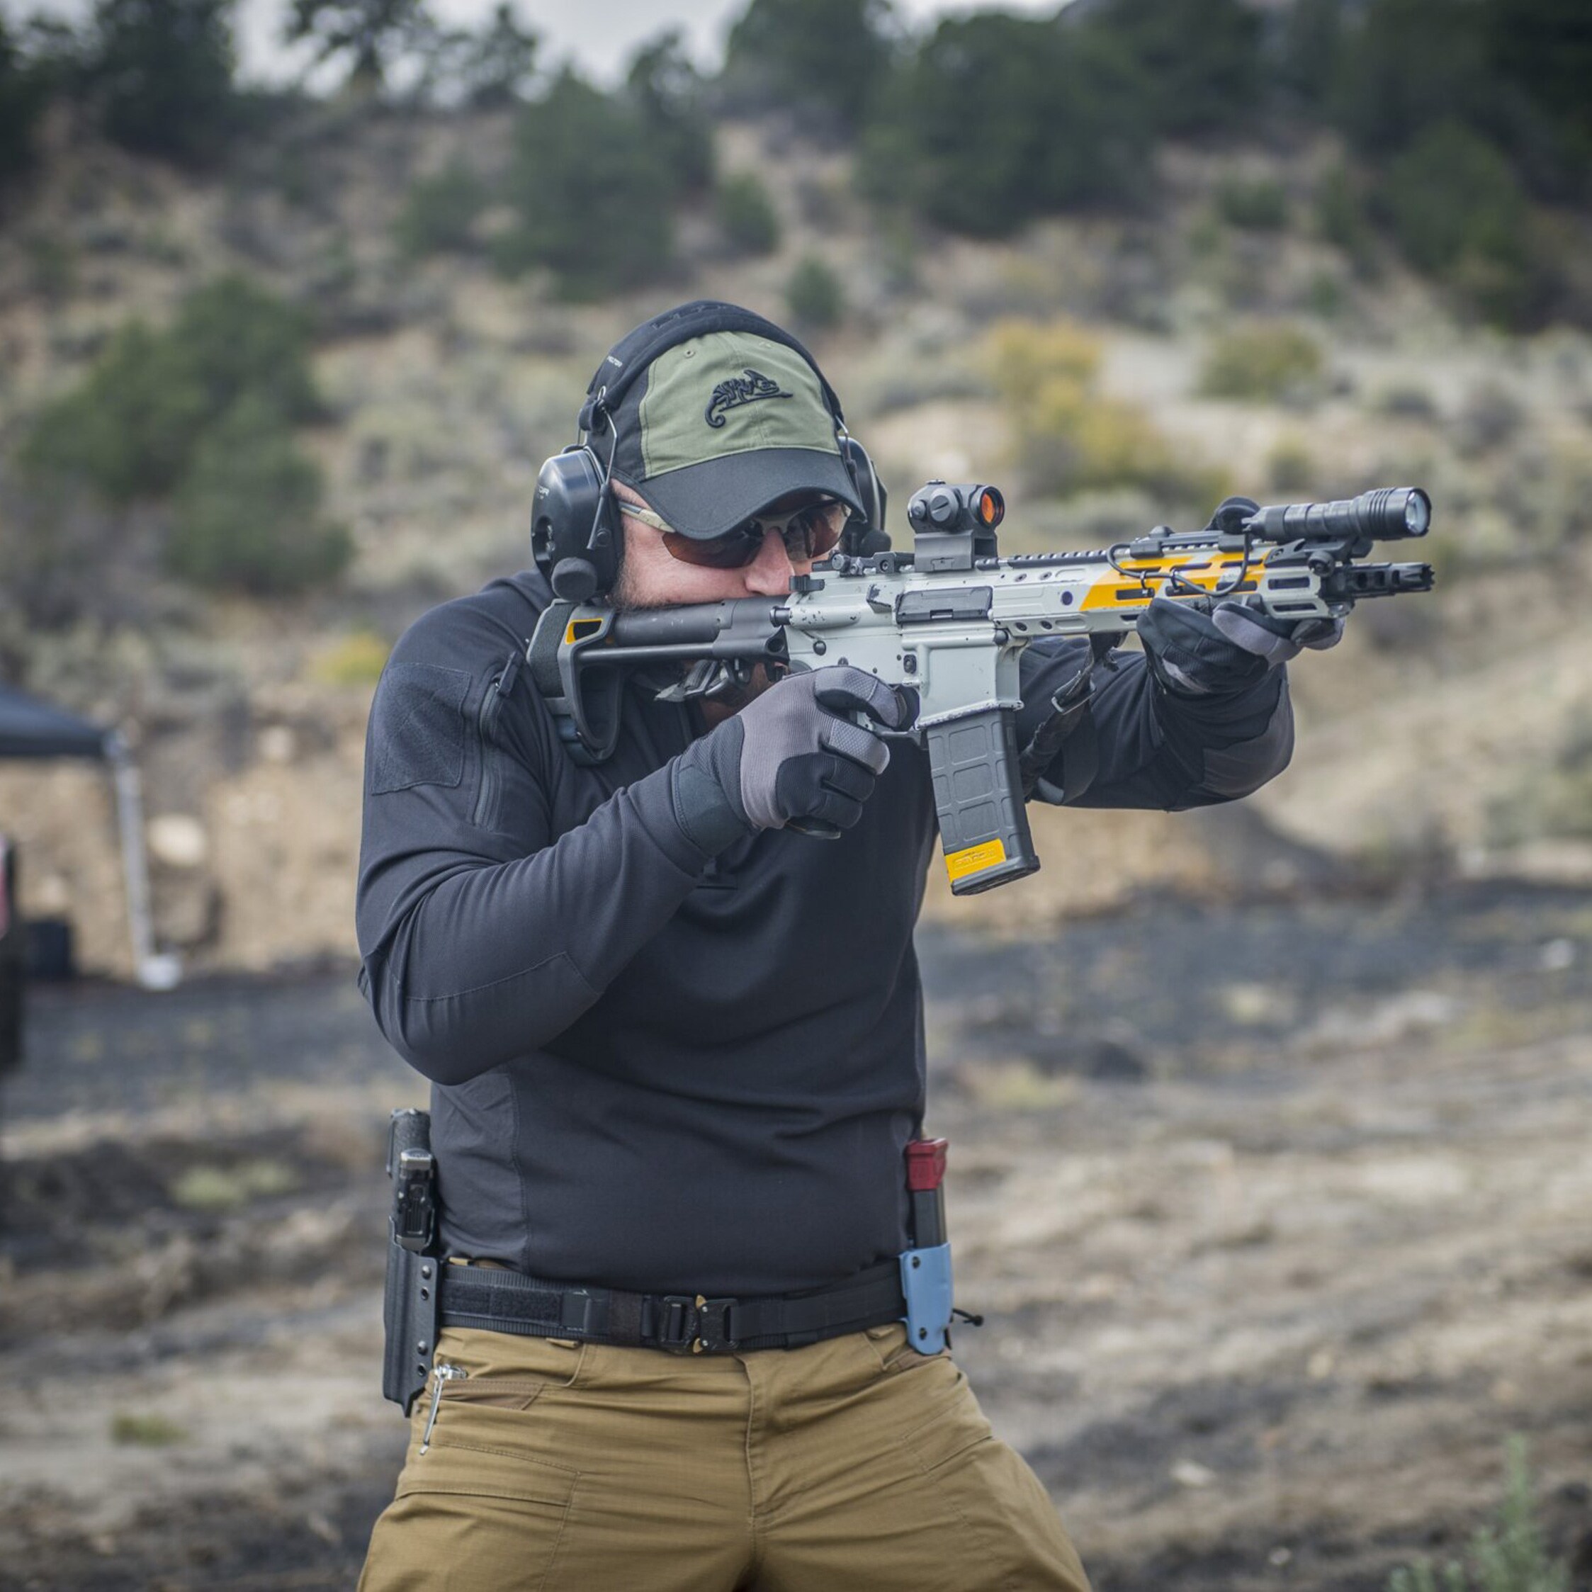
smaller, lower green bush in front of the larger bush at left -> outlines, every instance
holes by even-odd
[[[322,478],[283,414],[240,398],[194,451],[177,490],[166,554],[196,586],[277,595],[323,584],[347,565],[345,530],[320,516]]]

